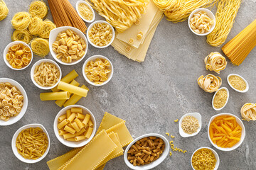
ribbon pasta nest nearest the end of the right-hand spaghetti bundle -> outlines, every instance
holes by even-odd
[[[220,74],[220,71],[225,69],[227,66],[227,61],[225,60],[225,57],[220,55],[219,52],[210,52],[210,55],[208,55],[204,62],[206,63],[206,70],[214,71],[218,74]]]

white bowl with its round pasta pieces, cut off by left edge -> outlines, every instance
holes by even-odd
[[[0,126],[12,125],[26,113],[28,96],[21,84],[0,78]]]

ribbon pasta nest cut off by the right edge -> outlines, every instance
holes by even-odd
[[[247,121],[256,120],[256,104],[245,103],[241,108],[241,115]]]

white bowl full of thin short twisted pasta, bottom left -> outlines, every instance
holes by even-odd
[[[33,145],[37,146],[34,147]],[[36,123],[24,125],[14,133],[11,140],[11,149],[22,162],[28,164],[40,162],[50,150],[50,137],[46,128]],[[30,149],[33,149],[33,151],[28,153]],[[24,155],[21,155],[23,152]]]

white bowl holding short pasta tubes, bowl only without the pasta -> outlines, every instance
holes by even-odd
[[[60,115],[63,115],[66,113],[66,111],[70,108],[82,108],[82,113],[85,114],[90,114],[90,118],[92,120],[92,123],[93,123],[93,130],[92,130],[92,135],[90,136],[89,139],[86,139],[86,140],[81,140],[81,141],[78,141],[78,142],[75,142],[75,141],[68,141],[68,140],[65,140],[62,136],[58,135],[58,128],[57,128],[57,125],[58,125],[58,117],[60,117]],[[85,145],[87,145],[87,143],[89,143],[91,140],[92,140],[92,137],[94,137],[95,135],[95,132],[96,132],[96,128],[97,128],[97,125],[96,125],[96,120],[95,120],[95,116],[92,115],[91,111],[87,108],[85,108],[84,106],[80,106],[80,105],[70,105],[70,106],[67,106],[63,109],[60,110],[60,112],[56,115],[55,119],[54,119],[54,123],[53,123],[53,130],[54,130],[54,133],[55,133],[55,136],[57,137],[57,139],[65,146],[67,147],[83,147]]]

